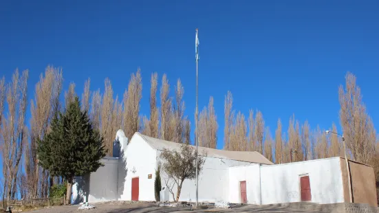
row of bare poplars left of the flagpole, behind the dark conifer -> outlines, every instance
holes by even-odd
[[[48,66],[41,74],[34,88],[30,101],[29,126],[25,121],[28,109],[28,71],[14,71],[12,81],[0,79],[0,147],[3,162],[3,179],[1,179],[1,197],[3,200],[21,198],[47,197],[53,184],[65,181],[61,177],[52,177],[49,171],[39,166],[36,154],[37,142],[50,132],[50,122],[59,111],[65,110],[76,96],[76,85],[69,84],[63,90],[63,71]],[[111,81],[105,79],[105,89],[91,90],[90,79],[84,84],[81,98],[82,110],[89,113],[91,122],[104,138],[107,155],[111,155],[113,140],[118,129],[123,129],[131,138],[136,131],[151,137],[173,142],[191,142],[191,123],[184,115],[184,87],[177,80],[175,97],[170,96],[171,86],[166,75],[162,76],[158,103],[158,74],[151,75],[150,115],[140,115],[142,98],[142,76],[138,69],[131,74],[129,85],[122,100],[113,93]],[[158,108],[158,105],[160,107]],[[5,113],[4,113],[5,111]],[[216,117],[209,115],[217,126]],[[27,127],[28,126],[28,127]],[[216,135],[216,130],[213,135]],[[216,139],[211,142],[215,147]],[[23,169],[24,168],[24,169]]]

